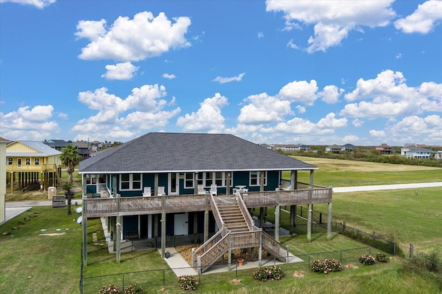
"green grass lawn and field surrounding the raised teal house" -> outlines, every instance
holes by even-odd
[[[352,165],[348,160],[314,163],[317,158],[312,158],[312,161],[300,159],[320,167],[314,173],[318,185],[343,187],[373,182],[442,180],[441,169],[428,167],[412,167],[410,170],[410,167],[370,162]],[[308,182],[309,175],[305,176]],[[348,176],[352,176],[352,182],[348,182]],[[346,220],[348,225],[358,225],[367,231],[391,234],[398,242],[413,243],[416,249],[429,251],[440,248],[442,244],[441,196],[441,188],[419,189],[418,196],[414,195],[414,190],[335,193],[333,218]],[[314,211],[326,213],[327,210],[325,206],[316,204]],[[34,215],[37,217],[29,218]],[[287,222],[284,220],[287,216],[284,213],[281,216],[282,222]],[[25,217],[30,220],[23,220]],[[0,235],[0,293],[79,293],[81,227],[74,221],[76,217],[68,216],[66,209],[62,208],[35,207],[2,224],[0,233],[11,231],[11,234]],[[25,224],[19,226],[18,222]],[[20,228],[11,230],[15,226]],[[93,233],[97,233],[98,242],[93,242]],[[311,258],[336,258],[340,253],[323,252],[365,246],[338,233],[333,233],[332,240],[326,237],[325,231],[319,230],[312,233],[311,243],[307,243],[305,235],[281,238],[281,242],[289,245],[290,251],[304,260],[307,260],[308,253]],[[86,277],[157,269],[150,273],[127,274],[124,284],[137,282],[143,286],[144,293],[160,293],[164,281],[166,293],[183,292],[157,251],[124,253],[122,262],[117,264],[115,255],[104,249],[103,238],[99,220],[90,220],[88,266],[84,268]],[[361,252],[366,250],[361,249]],[[356,250],[343,254],[343,264],[354,264],[358,269],[344,269],[329,275],[312,273],[306,262],[282,265],[285,277],[280,281],[257,282],[249,270],[202,275],[200,287],[195,293],[441,293],[440,285],[432,277],[402,271],[403,260],[398,258],[374,266],[358,264],[357,255],[361,252]],[[305,277],[293,277],[294,271]],[[240,284],[232,284],[233,279],[241,280]],[[122,275],[86,279],[85,293],[98,293],[100,286],[110,282],[121,285]]]

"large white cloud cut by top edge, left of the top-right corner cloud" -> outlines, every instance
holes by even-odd
[[[326,51],[339,45],[351,30],[388,25],[396,14],[388,1],[279,1],[267,0],[267,11],[285,14],[286,30],[299,28],[296,22],[314,25],[307,52]]]

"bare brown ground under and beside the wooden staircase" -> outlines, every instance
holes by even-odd
[[[197,249],[199,246],[200,246],[199,244],[198,245],[194,244],[194,245],[189,245],[189,246],[178,246],[178,247],[175,247],[175,250],[177,251],[177,253],[180,253],[182,258],[184,258],[184,260],[186,260],[186,262],[188,264],[191,264],[192,248]],[[238,260],[240,258],[242,258],[245,262],[251,261],[251,260],[258,260],[258,250],[259,250],[259,247],[256,247],[253,251],[251,249],[233,249],[231,261],[236,262],[236,260]],[[253,255],[251,254],[251,252],[253,252]],[[262,250],[261,257],[263,259],[269,258],[269,254],[267,253],[267,251]],[[217,260],[215,262],[215,264],[227,263],[227,260],[229,260],[229,254],[225,253],[222,258],[220,258],[219,260]]]

